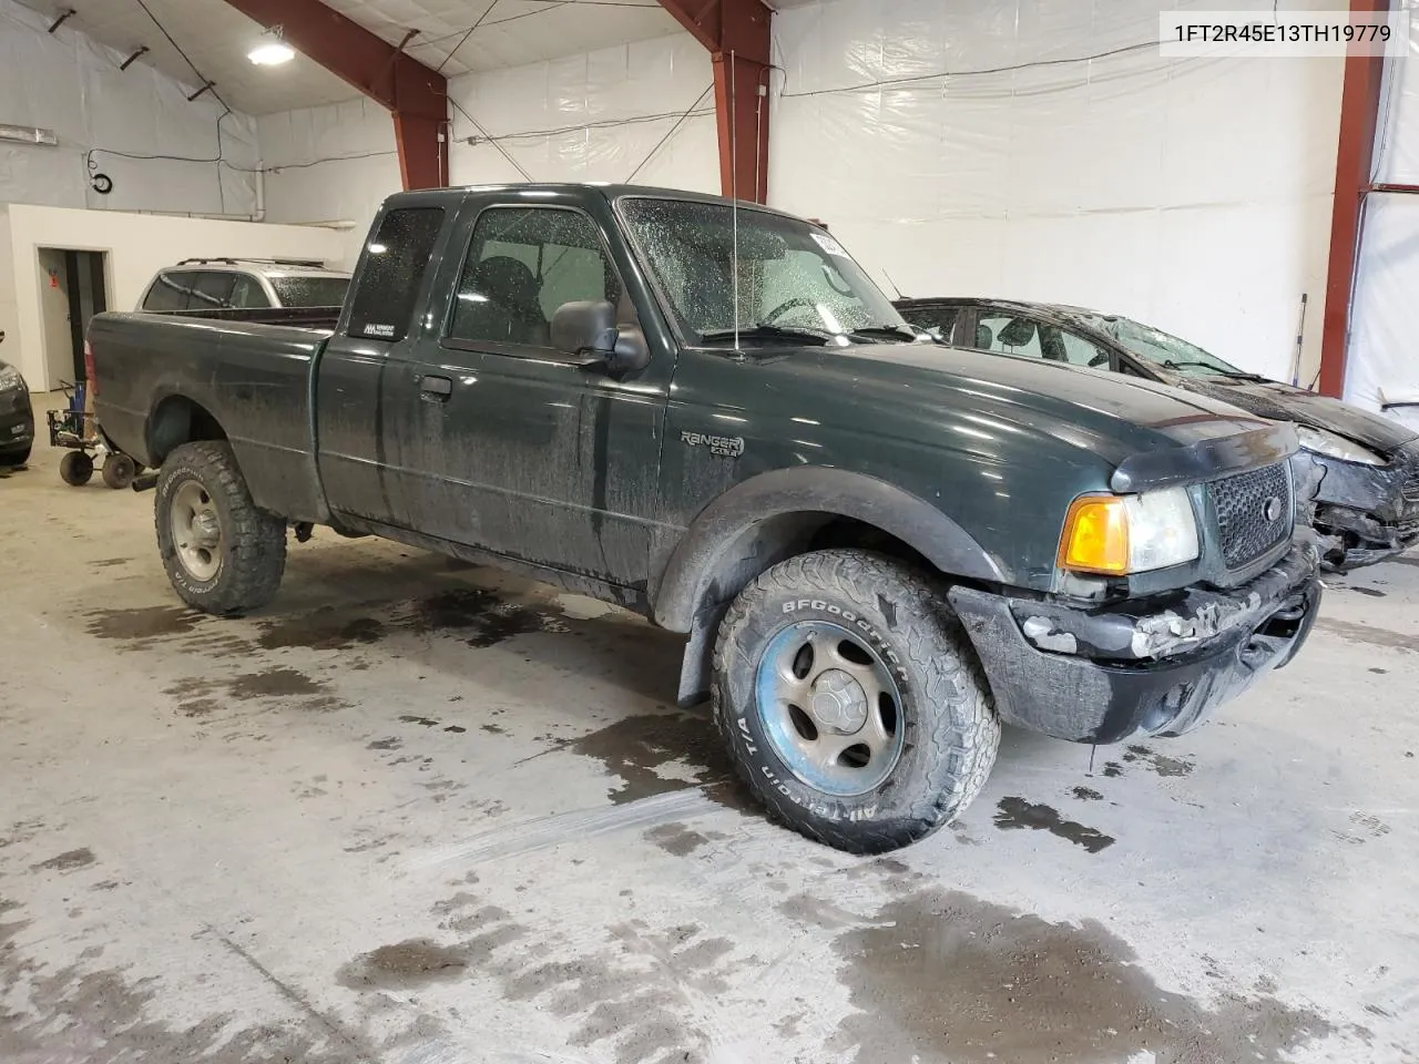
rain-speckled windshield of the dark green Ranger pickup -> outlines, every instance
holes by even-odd
[[[728,203],[697,200],[634,196],[620,211],[691,343],[728,345],[736,331],[755,346],[917,336],[823,228],[749,207],[735,226]]]

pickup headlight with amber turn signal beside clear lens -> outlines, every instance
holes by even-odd
[[[1060,538],[1060,569],[1147,573],[1198,556],[1198,519],[1186,488],[1074,499]]]

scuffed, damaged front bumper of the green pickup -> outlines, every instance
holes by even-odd
[[[1301,648],[1321,602],[1315,549],[1296,546],[1230,590],[1083,609],[954,587],[996,712],[1074,742],[1182,735]]]

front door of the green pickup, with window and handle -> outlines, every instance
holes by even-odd
[[[470,200],[461,231],[467,251],[441,272],[447,306],[430,308],[410,366],[386,377],[416,528],[643,583],[671,367],[663,358],[613,380],[549,336],[553,312],[580,299],[607,299],[636,322],[600,226],[573,206]]]

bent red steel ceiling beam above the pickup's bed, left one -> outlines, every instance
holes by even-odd
[[[448,184],[448,81],[321,0],[227,0],[394,118],[404,189]]]

